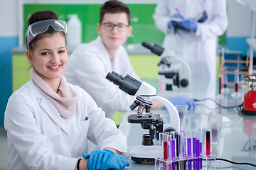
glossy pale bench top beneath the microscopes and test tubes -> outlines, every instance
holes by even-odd
[[[216,97],[218,95],[218,92],[216,92],[216,89],[218,89],[217,84],[218,80],[192,80],[192,98],[213,98],[221,106],[238,106],[242,103],[243,96],[248,91],[246,85],[242,86],[239,89],[240,97],[233,98],[231,94],[234,88],[233,86],[228,86],[230,91],[223,95],[223,99],[218,100]],[[236,108],[220,108],[210,100],[198,101],[196,102],[196,108],[186,113],[186,130],[198,128],[203,128],[203,132],[208,130],[208,115],[211,111],[220,113],[223,117],[219,144],[211,146],[211,154],[215,154],[217,158],[228,159],[233,162],[256,164],[256,150],[252,150],[250,147],[250,136],[252,131],[256,131],[256,116],[238,113]],[[164,121],[168,123],[169,114],[166,110],[156,109],[151,110],[151,112],[160,114]],[[128,151],[134,146],[142,145],[142,135],[149,133],[149,130],[142,129],[140,124],[127,122],[128,115],[136,113],[136,111],[127,111],[119,125],[119,130],[127,137]],[[205,144],[203,144],[203,152],[206,152]],[[126,169],[155,169],[154,164],[136,164],[131,159],[129,159],[129,162],[131,166]],[[235,165],[217,160],[215,165],[216,169],[256,169],[254,166]]]

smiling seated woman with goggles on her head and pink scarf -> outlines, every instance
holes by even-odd
[[[68,62],[65,21],[53,11],[28,19],[28,81],[9,98],[4,125],[9,169],[124,169],[127,142],[114,122],[62,75]],[[100,150],[87,153],[87,140]],[[80,159],[80,157],[85,159]]]

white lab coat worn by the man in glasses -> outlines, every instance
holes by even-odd
[[[121,45],[110,60],[105,45],[100,38],[88,44],[79,45],[68,58],[68,65],[63,72],[70,84],[78,85],[87,91],[102,108],[107,118],[112,118],[114,111],[129,111],[135,100],[134,96],[121,91],[118,86],[105,79],[109,72],[117,72],[134,79],[139,79],[134,72],[129,56]]]

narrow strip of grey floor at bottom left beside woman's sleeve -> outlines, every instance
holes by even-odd
[[[7,132],[4,126],[0,126],[0,170],[8,170],[8,144],[7,144]]]

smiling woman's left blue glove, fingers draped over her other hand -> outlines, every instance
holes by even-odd
[[[104,164],[107,161],[107,158],[110,157],[110,155],[114,155],[114,152],[112,152],[109,149],[103,149],[103,150],[94,150],[91,152],[91,154],[82,154],[82,157],[87,160],[87,169],[89,170],[95,170],[100,169],[101,164]]]

